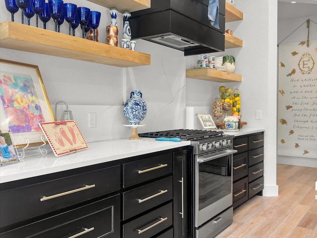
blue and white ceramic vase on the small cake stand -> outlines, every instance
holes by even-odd
[[[125,102],[123,108],[124,117],[129,120],[130,125],[139,125],[147,115],[147,104],[142,98],[140,90],[134,90],[130,98]]]

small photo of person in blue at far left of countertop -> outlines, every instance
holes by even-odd
[[[9,162],[19,162],[18,152],[11,131],[0,130],[0,165]]]

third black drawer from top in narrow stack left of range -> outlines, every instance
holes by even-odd
[[[123,225],[123,238],[151,238],[173,224],[173,206],[168,203]]]

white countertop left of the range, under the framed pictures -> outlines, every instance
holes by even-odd
[[[88,149],[55,157],[48,146],[46,155],[28,156],[18,163],[5,163],[0,167],[0,183],[26,179],[84,166],[129,158],[133,156],[174,149],[190,145],[190,141],[156,141],[153,138],[139,140],[116,139],[88,143]]]

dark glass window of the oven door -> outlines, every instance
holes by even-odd
[[[231,193],[231,155],[199,164],[199,210]]]

